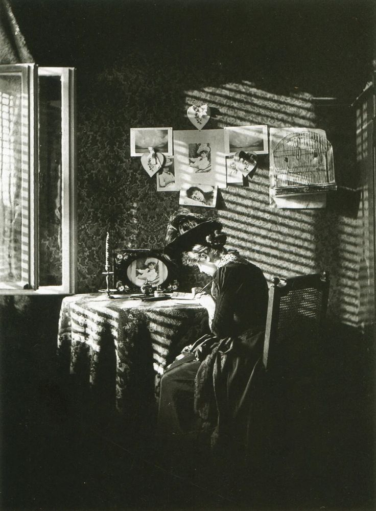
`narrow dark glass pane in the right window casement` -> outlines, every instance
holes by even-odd
[[[62,284],[61,81],[39,77],[39,285]]]

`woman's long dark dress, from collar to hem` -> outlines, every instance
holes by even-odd
[[[175,439],[204,429],[212,446],[235,442],[243,450],[261,370],[268,286],[259,267],[233,257],[214,274],[212,295],[213,335],[177,357],[161,378],[158,428]]]

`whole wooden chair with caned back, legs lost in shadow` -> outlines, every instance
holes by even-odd
[[[278,489],[271,496],[277,500],[311,484],[322,467],[326,352],[321,339],[328,290],[325,273],[274,278],[269,288],[262,463],[263,476]]]

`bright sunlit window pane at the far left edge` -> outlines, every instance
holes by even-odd
[[[27,283],[29,264],[22,235],[28,223],[28,176],[22,172],[21,100],[21,75],[0,75],[0,287],[11,289]]]

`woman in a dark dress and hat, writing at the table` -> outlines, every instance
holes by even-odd
[[[174,259],[180,254],[183,264],[213,277],[211,293],[197,296],[212,334],[187,346],[162,376],[158,428],[176,440],[205,431],[212,447],[231,444],[243,451],[253,420],[249,399],[260,367],[268,286],[259,267],[224,247],[221,228],[187,210],[170,218],[165,253]]]

